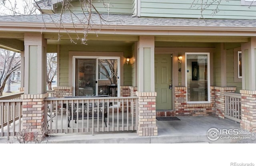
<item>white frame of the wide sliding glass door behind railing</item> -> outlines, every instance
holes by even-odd
[[[73,84],[73,87],[75,87],[75,84],[76,84],[76,59],[96,59],[96,81],[98,81],[98,59],[117,59],[117,75],[119,77],[119,79],[117,79],[117,97],[120,97],[120,57],[104,57],[104,56],[98,56],[98,57],[95,57],[95,56],[73,56],[73,72],[72,72],[72,78],[73,78],[73,81],[72,81],[72,84]],[[96,91],[96,94],[95,95],[98,95],[98,86],[96,86],[95,88],[95,91]],[[73,88],[73,95],[75,94],[75,88]]]

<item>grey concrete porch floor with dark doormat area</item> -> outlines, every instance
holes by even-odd
[[[240,124],[218,117],[178,117],[180,121],[156,121],[158,136],[140,137],[136,131],[52,134],[42,143],[256,143],[252,139],[218,139],[211,141],[206,133],[210,128],[239,129]],[[9,143],[0,137],[0,143]]]

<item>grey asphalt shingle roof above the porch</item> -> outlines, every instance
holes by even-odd
[[[93,24],[100,24],[97,14],[92,15]],[[59,23],[60,14],[44,14],[30,16],[0,16],[0,22],[45,22]],[[102,18],[109,22],[107,25],[133,25],[133,26],[213,26],[213,27],[256,27],[256,20],[232,20],[232,19],[196,19],[196,18],[153,18],[132,17],[123,14],[102,14]],[[62,23],[85,24],[87,22],[84,14],[62,14]]]

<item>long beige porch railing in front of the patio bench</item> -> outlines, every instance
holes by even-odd
[[[47,98],[50,133],[137,130],[138,97]],[[78,107],[77,107],[78,106]]]

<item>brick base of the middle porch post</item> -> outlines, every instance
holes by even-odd
[[[138,136],[157,136],[156,92],[136,92],[138,102]]]

